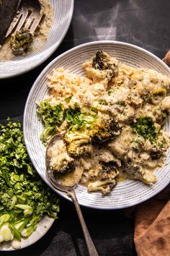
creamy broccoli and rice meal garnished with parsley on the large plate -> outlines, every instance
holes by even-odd
[[[170,79],[135,69],[98,51],[83,64],[86,77],[63,68],[48,76],[48,96],[37,114],[50,168],[65,185],[80,183],[104,195],[122,179],[156,182],[169,136],[163,129],[170,110]]]

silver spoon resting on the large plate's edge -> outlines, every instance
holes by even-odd
[[[86,227],[86,223],[84,221],[83,214],[81,213],[81,208],[80,208],[79,202],[76,198],[76,193],[74,190],[76,185],[73,185],[72,187],[66,187],[63,184],[59,184],[56,177],[53,176],[53,171],[50,168],[50,157],[48,156],[48,149],[50,148],[51,145],[53,145],[53,143],[56,140],[61,140],[62,138],[63,138],[62,135],[54,135],[53,137],[51,137],[50,141],[48,142],[48,146],[46,149],[46,155],[45,155],[46,174],[47,174],[48,179],[50,180],[51,184],[53,184],[53,187],[55,187],[55,189],[59,189],[59,190],[65,192],[68,197],[71,197],[71,200],[73,201],[73,204],[76,208],[76,212],[79,216],[81,228],[84,232],[84,238],[86,240],[86,246],[87,246],[87,249],[89,252],[89,256],[99,256],[97,253],[97,249],[94,247],[94,243],[91,239],[89,231]]]

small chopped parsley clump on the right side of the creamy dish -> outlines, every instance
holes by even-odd
[[[136,132],[137,135],[142,136],[145,140],[150,140],[154,142],[158,135],[158,130],[154,126],[153,119],[148,116],[140,116],[139,119],[133,124],[131,124],[133,132]]]

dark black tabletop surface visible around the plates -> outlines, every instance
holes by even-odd
[[[71,27],[53,56],[27,74],[0,80],[0,119],[22,116],[37,75],[56,56],[81,43],[121,40],[146,48],[162,59],[169,49],[169,10],[169,0],[75,0]],[[82,210],[99,255],[135,255],[133,219],[126,218],[123,210]],[[86,244],[71,202],[61,199],[59,217],[39,242],[0,255],[86,256]]]

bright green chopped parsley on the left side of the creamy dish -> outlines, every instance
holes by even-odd
[[[97,119],[96,112],[86,113],[77,104],[64,109],[63,104],[51,106],[48,101],[41,101],[38,107],[37,114],[44,125],[40,139],[44,144],[58,132],[58,128],[65,120],[68,124],[68,130],[76,131],[83,127],[91,129],[91,124]]]

